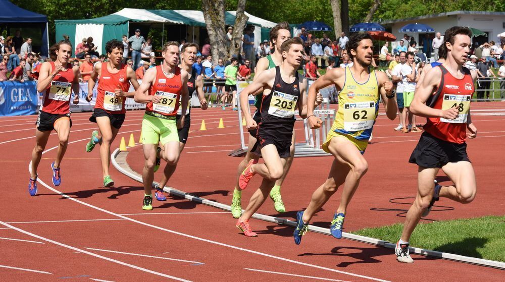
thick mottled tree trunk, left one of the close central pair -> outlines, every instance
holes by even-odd
[[[204,12],[214,65],[217,65],[219,59],[224,61],[228,58],[224,30],[224,7],[224,0],[201,0],[201,10]]]

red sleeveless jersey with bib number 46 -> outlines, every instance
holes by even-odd
[[[120,88],[123,92],[128,92],[130,82],[126,69],[127,65],[121,64],[118,73],[111,73],[107,68],[108,63],[102,63],[102,74],[98,79],[96,103],[94,108],[103,109],[110,114],[124,114],[126,112],[126,97],[116,96],[114,90]]]

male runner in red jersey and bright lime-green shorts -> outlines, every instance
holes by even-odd
[[[135,102],[147,103],[142,120],[142,143],[144,150],[144,201],[142,209],[153,209],[151,187],[154,179],[156,158],[163,158],[169,165],[179,160],[180,146],[177,129],[184,126],[186,116],[189,74],[177,66],[179,61],[179,43],[165,43],[162,50],[163,62],[156,68],[148,69],[142,84],[135,92]],[[148,93],[146,93],[149,91]],[[176,121],[177,110],[181,102],[181,118]],[[161,142],[164,150],[157,150]]]

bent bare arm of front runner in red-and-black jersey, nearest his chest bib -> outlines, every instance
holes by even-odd
[[[425,104],[428,98],[438,88],[441,78],[442,71],[440,68],[431,69],[426,73],[422,85],[414,92],[414,99],[410,106],[412,114],[425,118],[440,117],[448,120],[453,120],[458,117],[459,111],[457,107],[441,110]]]

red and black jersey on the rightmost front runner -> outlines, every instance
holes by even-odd
[[[423,128],[438,139],[462,144],[467,139],[467,118],[470,113],[470,101],[475,92],[472,75],[467,68],[463,68],[463,78],[457,79],[442,65],[438,67],[442,71],[440,86],[430,97],[427,105],[442,110],[457,107],[460,113],[453,120],[427,118]]]

